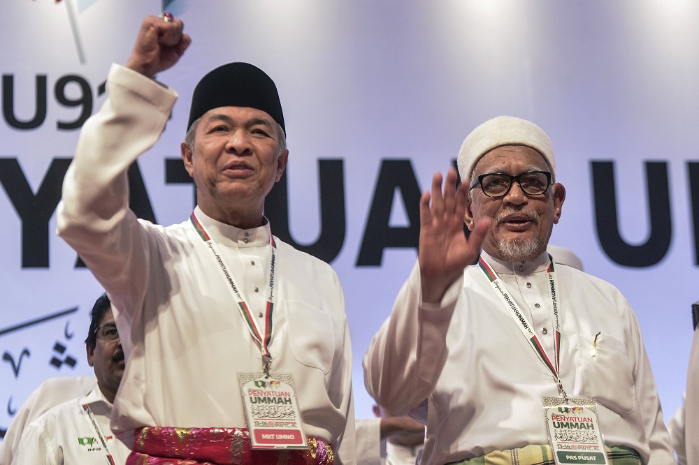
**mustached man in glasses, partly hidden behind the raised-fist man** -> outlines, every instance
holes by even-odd
[[[124,351],[106,294],[92,307],[85,350],[97,385],[85,397],[59,404],[29,423],[22,431],[13,465],[126,463],[131,451],[115,440],[109,427],[124,374]]]

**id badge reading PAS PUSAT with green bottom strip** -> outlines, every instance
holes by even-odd
[[[556,464],[609,465],[594,399],[543,400],[546,431]]]

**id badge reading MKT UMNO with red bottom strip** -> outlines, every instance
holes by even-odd
[[[306,449],[291,374],[238,373],[253,449]]]

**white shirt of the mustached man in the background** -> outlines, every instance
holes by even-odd
[[[99,425],[92,426],[83,413],[87,404]],[[112,404],[95,387],[87,396],[72,399],[46,411],[24,428],[13,465],[105,464],[111,455],[117,465],[126,463],[129,448],[115,440],[109,429]],[[99,440],[107,443],[105,450]]]

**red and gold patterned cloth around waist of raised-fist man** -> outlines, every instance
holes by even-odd
[[[136,430],[127,465],[333,465],[331,446],[308,439],[306,450],[252,449],[245,428],[145,427]]]

